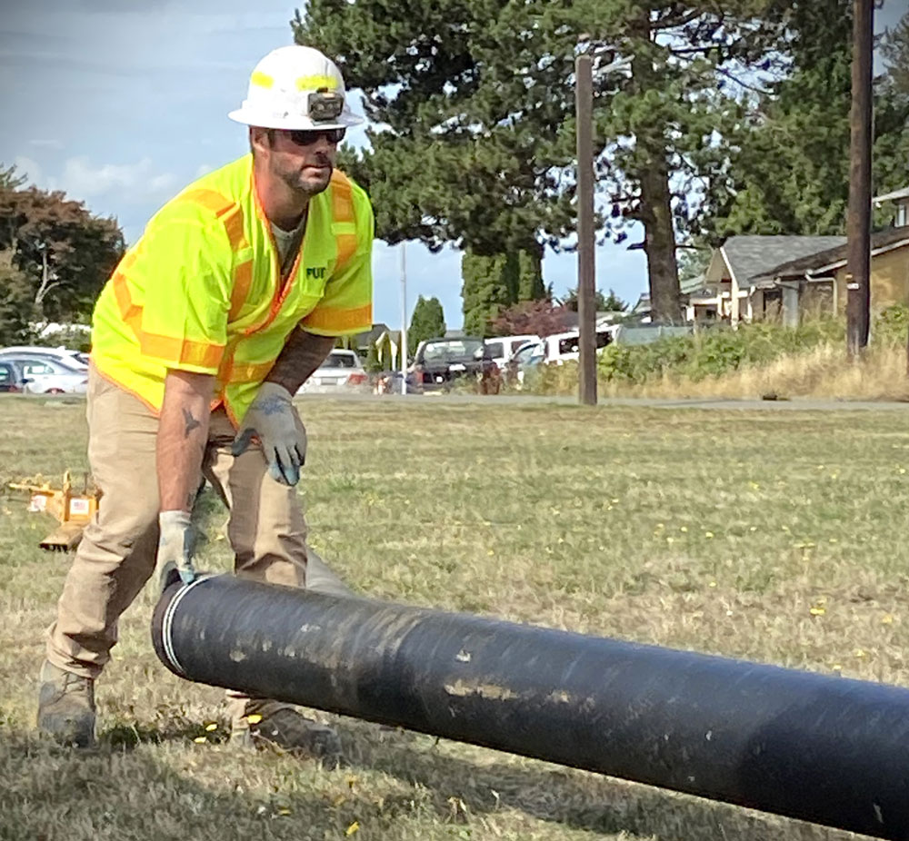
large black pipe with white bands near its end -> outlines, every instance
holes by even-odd
[[[216,576],[165,591],[175,674],[909,839],[909,690]]]

